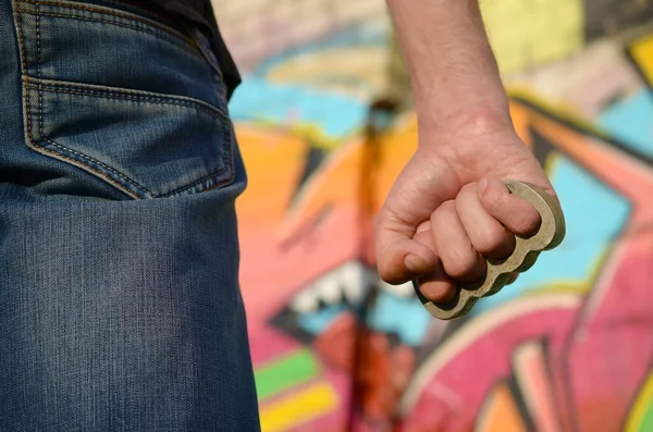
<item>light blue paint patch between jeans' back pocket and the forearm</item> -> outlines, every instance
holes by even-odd
[[[366,121],[367,110],[364,102],[345,95],[255,77],[243,79],[230,102],[235,122],[309,124],[330,139],[345,138],[358,131]]]

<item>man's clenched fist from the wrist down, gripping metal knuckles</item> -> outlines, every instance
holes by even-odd
[[[518,180],[554,195],[531,150],[508,123],[485,120],[453,131],[420,131],[420,147],[393,185],[377,217],[381,277],[420,282],[433,301],[455,294],[456,282],[476,282],[485,258],[505,258],[515,234],[540,225],[533,206],[502,183]]]

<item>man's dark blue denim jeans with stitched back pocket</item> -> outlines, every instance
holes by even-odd
[[[258,431],[220,67],[121,2],[0,0],[0,431]]]

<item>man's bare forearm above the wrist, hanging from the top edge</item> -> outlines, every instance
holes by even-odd
[[[478,0],[386,0],[421,126],[509,123]]]

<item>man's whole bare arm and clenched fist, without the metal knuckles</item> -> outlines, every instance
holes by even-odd
[[[416,101],[419,146],[374,220],[381,277],[432,301],[483,276],[541,223],[502,181],[555,192],[517,136],[478,0],[386,0]],[[513,276],[513,280],[516,275]]]

